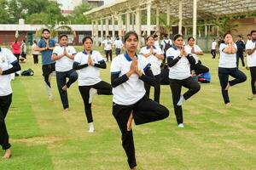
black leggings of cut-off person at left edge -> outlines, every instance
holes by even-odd
[[[2,146],[3,150],[7,150],[11,147],[11,144],[9,144],[9,134],[4,121],[11,103],[12,94],[0,96],[0,145]]]

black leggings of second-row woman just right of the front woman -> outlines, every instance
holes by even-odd
[[[181,96],[182,87],[189,88],[189,90],[183,94],[183,98],[187,100],[196,94],[200,90],[201,86],[198,82],[195,82],[192,77],[189,77],[183,80],[170,79],[170,87],[172,90],[172,104],[177,124],[183,123],[183,108],[181,105],[177,105]]]

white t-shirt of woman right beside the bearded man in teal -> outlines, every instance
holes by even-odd
[[[72,46],[67,46],[67,54],[77,54],[75,48]],[[63,46],[56,46],[52,52],[56,55],[61,55],[64,53]],[[55,70],[59,72],[70,71],[73,68],[73,59],[69,59],[67,56],[62,57],[61,59],[56,60]]]

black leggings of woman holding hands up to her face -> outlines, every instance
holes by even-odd
[[[234,77],[234,80],[229,81],[229,76]],[[228,90],[225,88],[230,82],[230,86],[234,86],[238,83],[245,82],[247,80],[247,76],[239,71],[237,68],[221,68],[218,67],[218,78],[221,86],[221,92],[224,99],[224,103],[230,103],[230,97]]]

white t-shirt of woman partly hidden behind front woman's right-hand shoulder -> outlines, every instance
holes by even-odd
[[[141,48],[140,54],[148,54],[149,52],[150,52],[150,48],[148,48],[148,46],[146,46],[146,47]],[[161,49],[156,48],[156,47],[154,47],[154,53],[163,54]],[[151,64],[151,70],[152,70],[154,76],[159,75],[161,73],[160,65],[162,63],[162,60],[158,59],[153,54],[149,55],[147,58],[145,57],[145,59],[147,59],[148,63]]]

